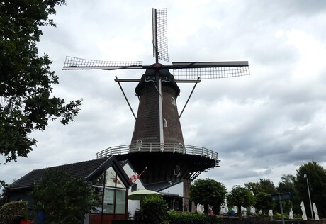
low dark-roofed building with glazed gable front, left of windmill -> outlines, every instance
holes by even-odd
[[[9,185],[6,190],[7,202],[27,201],[28,206],[33,206],[33,198],[29,193],[35,182],[43,178],[47,169],[54,172],[64,170],[71,178],[83,178],[99,193],[100,206],[85,216],[85,224],[128,220],[129,213],[135,213],[140,206],[139,201],[128,201],[128,193],[133,191],[135,186],[143,187],[142,181],[137,179],[134,184],[130,182],[129,175],[133,173],[132,165],[128,161],[119,162],[114,156],[35,169]]]

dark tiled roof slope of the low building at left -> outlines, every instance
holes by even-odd
[[[29,172],[25,176],[21,177],[20,179],[14,181],[10,184],[9,188],[11,190],[15,189],[30,189],[33,187],[35,181],[40,181],[42,179],[45,169],[52,169],[54,171],[64,169],[67,174],[72,177],[82,177],[85,178],[89,177],[89,175],[96,172],[96,169],[101,167],[109,158],[101,158],[101,159],[94,159],[84,162],[76,162],[72,164],[61,165],[57,167],[49,167],[44,169],[34,169],[33,171]]]

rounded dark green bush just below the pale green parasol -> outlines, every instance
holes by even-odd
[[[142,201],[142,215],[147,223],[168,223],[167,202],[162,196],[145,198]]]

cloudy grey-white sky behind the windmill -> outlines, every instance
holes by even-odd
[[[185,144],[214,150],[221,160],[200,178],[230,190],[259,178],[278,184],[312,159],[326,167],[326,1],[67,0],[53,17],[57,28],[43,28],[39,51],[50,55],[60,78],[53,94],[83,99],[81,111],[74,123],[52,122],[33,133],[37,147],[1,164],[0,179],[10,184],[33,169],[130,144],[135,119],[113,79],[142,72],[62,66],[66,55],[151,65],[152,7],[168,11],[170,62],[249,61],[250,76],[198,84],[181,117]],[[180,112],[193,85],[179,86]],[[123,89],[137,111],[135,83]]]

